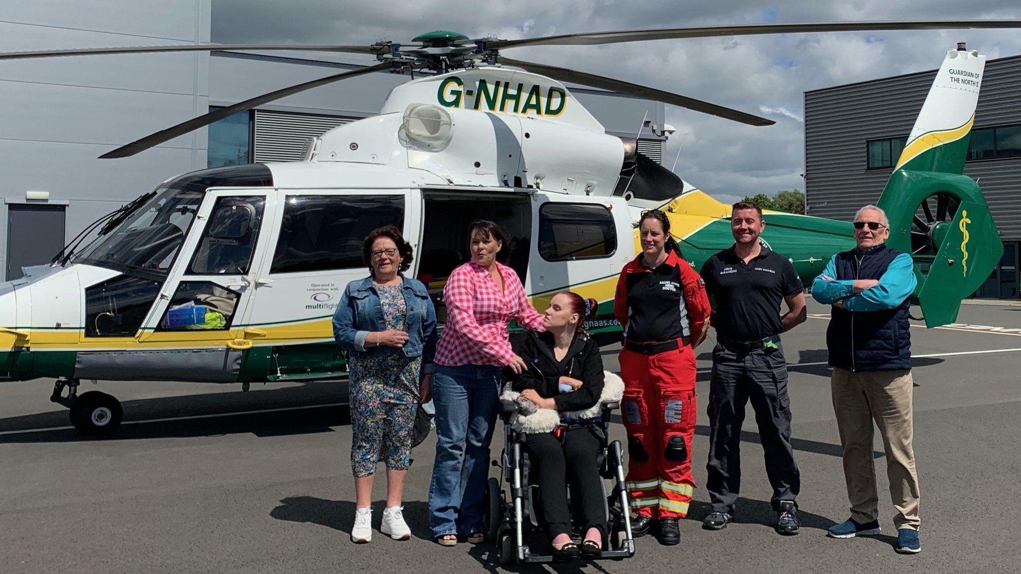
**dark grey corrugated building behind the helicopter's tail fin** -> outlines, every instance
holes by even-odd
[[[936,70],[805,93],[805,188],[812,216],[849,220],[874,203]],[[1019,296],[1021,56],[988,60],[964,173],[978,180],[1004,241],[1000,266],[976,293]]]

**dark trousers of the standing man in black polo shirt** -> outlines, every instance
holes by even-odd
[[[706,488],[713,512],[734,513],[741,486],[741,424],[749,400],[766,456],[766,475],[773,486],[773,510],[780,510],[780,500],[794,500],[801,488],[790,447],[790,398],[783,348],[734,351],[717,344],[710,379],[706,465]]]

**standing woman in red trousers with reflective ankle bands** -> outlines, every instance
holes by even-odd
[[[628,431],[628,492],[640,536],[659,521],[660,542],[680,541],[679,518],[694,491],[694,347],[709,329],[710,304],[698,273],[681,258],[670,220],[659,209],[639,220],[642,252],[621,270],[614,315],[624,327],[621,378]]]

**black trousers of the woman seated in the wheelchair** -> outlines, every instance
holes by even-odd
[[[605,501],[596,465],[601,447],[594,434],[597,432],[602,431],[587,426],[569,428],[564,431],[563,444],[551,433],[525,437],[525,444],[532,455],[531,477],[539,484],[539,516],[550,539],[571,533],[569,483],[585,530],[598,528],[605,535]]]

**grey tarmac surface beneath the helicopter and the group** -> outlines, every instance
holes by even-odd
[[[917,307],[914,309],[919,313]],[[681,544],[637,539],[623,562],[499,566],[491,545],[433,543],[427,491],[430,437],[405,490],[408,541],[379,533],[379,473],[371,544],[352,544],[350,426],[343,383],[239,385],[108,383],[124,402],[117,435],[88,439],[49,402],[51,380],[0,384],[0,572],[1019,572],[1021,304],[965,304],[959,325],[912,330],[915,451],[922,553],[893,552],[882,445],[876,466],[883,533],[834,540],[848,516],[830,402],[828,307],[784,335],[793,445],[801,471],[801,533],[771,525],[770,488],[753,417],[742,435],[736,523],[702,530],[712,341],[698,347],[698,488]],[[712,337],[712,335],[711,335]],[[604,348],[607,369],[616,350]],[[83,383],[81,391],[91,384]],[[749,406],[750,410],[750,406]],[[623,438],[614,424],[613,438]],[[494,456],[499,451],[499,434]]]

